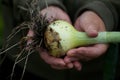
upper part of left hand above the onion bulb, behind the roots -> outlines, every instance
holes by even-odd
[[[41,10],[40,14],[42,14],[42,16],[45,16],[49,22],[52,22],[56,19],[61,19],[71,23],[71,20],[66,12],[55,6],[49,6],[48,8]]]

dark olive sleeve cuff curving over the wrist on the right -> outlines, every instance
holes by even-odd
[[[101,1],[93,1],[91,3],[88,3],[78,10],[75,18],[77,18],[84,11],[91,10],[91,11],[94,11],[96,14],[98,14],[98,16],[101,17],[101,19],[103,20],[103,22],[106,26],[107,31],[114,30],[118,24],[118,18],[117,18],[118,15],[111,4],[109,4],[109,5],[108,5],[108,3],[106,3],[106,4]]]

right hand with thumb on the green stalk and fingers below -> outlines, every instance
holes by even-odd
[[[105,25],[102,19],[92,11],[85,11],[81,14],[75,22],[75,28],[78,31],[86,32],[89,37],[96,37],[99,31],[105,31]],[[77,61],[77,65],[80,65],[81,63],[78,63],[78,61],[95,59],[103,55],[107,51],[107,48],[107,44],[95,44],[71,49],[67,52],[67,56],[64,60],[66,63]],[[81,66],[79,67],[81,68]]]

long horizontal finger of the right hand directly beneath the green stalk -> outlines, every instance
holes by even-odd
[[[96,58],[102,55],[107,51],[108,45],[105,44],[97,44],[94,46],[88,46],[88,47],[80,47],[77,49],[74,49],[74,51],[69,51],[67,54],[68,56],[73,57],[79,57],[79,58],[86,58],[86,60],[89,58]]]

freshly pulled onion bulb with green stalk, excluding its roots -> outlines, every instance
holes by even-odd
[[[75,47],[98,43],[119,43],[120,32],[99,32],[97,37],[91,38],[85,32],[77,31],[68,22],[56,20],[48,25],[44,42],[50,55],[61,57]]]

